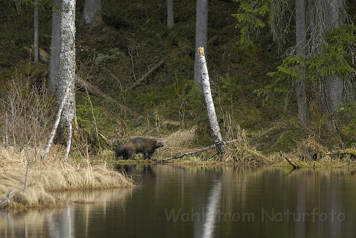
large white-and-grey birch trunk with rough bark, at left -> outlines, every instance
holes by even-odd
[[[56,136],[56,142],[66,145],[70,124],[77,128],[75,115],[75,0],[62,0],[59,48],[58,106],[67,93]],[[69,83],[68,92],[66,92]]]

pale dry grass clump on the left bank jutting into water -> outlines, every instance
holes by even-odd
[[[43,149],[37,152],[37,157]],[[34,155],[33,151],[29,152]],[[45,161],[34,159],[33,156],[27,179],[27,188],[24,190],[27,160],[25,151],[16,151],[14,148],[0,148],[0,207],[20,207],[55,205],[58,199],[51,191],[103,189],[114,187],[133,187],[134,181],[128,179],[123,173],[104,168],[91,166],[89,163],[59,163],[61,152],[51,149]],[[14,196],[12,196],[14,195]]]

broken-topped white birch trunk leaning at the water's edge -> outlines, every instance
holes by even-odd
[[[222,140],[219,123],[217,121],[216,114],[215,114],[214,102],[211,97],[210,80],[209,80],[209,74],[207,71],[206,60],[205,60],[205,56],[204,56],[204,48],[199,47],[197,51],[199,53],[198,54],[199,66],[201,69],[201,77],[203,79],[202,80],[203,93],[204,93],[205,102],[206,102],[207,116],[209,118],[210,127],[211,127],[211,131],[212,131],[212,138],[216,145],[216,150],[217,150],[218,154],[222,155],[226,152],[226,148],[225,148],[225,143]]]

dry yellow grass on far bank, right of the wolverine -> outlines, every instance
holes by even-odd
[[[232,127],[228,127],[232,128]],[[327,156],[327,149],[315,141],[313,137],[296,143],[294,151],[280,156],[276,151],[272,154],[265,155],[253,146],[249,145],[246,131],[238,125],[228,131],[226,141],[236,140],[227,144],[227,153],[223,157],[217,157],[216,150],[210,149],[205,152],[187,155],[179,159],[168,160],[166,163],[179,165],[198,165],[198,164],[225,164],[225,165],[248,165],[248,166],[283,166],[291,167],[285,157],[295,161],[302,167],[355,167],[356,161],[350,156]],[[179,130],[162,138],[164,147],[158,150],[160,159],[166,159],[181,153],[197,151],[202,148],[194,148],[195,128],[190,130]],[[312,161],[312,155],[317,154],[317,161]],[[340,158],[339,158],[340,157]]]

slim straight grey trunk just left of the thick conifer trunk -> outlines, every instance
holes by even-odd
[[[305,32],[305,0],[296,0],[296,44],[297,56],[305,57],[306,32]],[[301,128],[309,127],[309,119],[306,108],[305,93],[305,68],[303,68],[303,77],[297,82],[297,106],[299,125]]]

